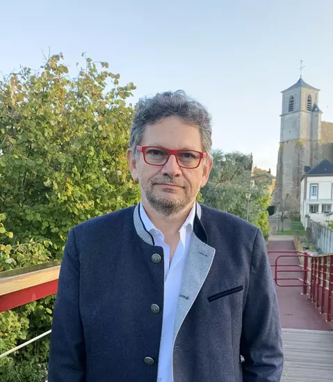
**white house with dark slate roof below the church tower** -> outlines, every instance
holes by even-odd
[[[300,219],[304,227],[311,220],[327,225],[333,212],[333,162],[323,159],[317,166],[304,168],[300,185]]]

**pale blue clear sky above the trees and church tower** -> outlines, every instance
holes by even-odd
[[[107,61],[133,102],[183,89],[213,121],[213,148],[276,173],[281,91],[300,77],[333,122],[332,0],[0,0],[0,72],[63,52]],[[73,69],[74,70],[74,69]]]

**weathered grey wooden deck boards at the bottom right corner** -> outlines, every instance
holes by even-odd
[[[281,382],[332,382],[333,332],[283,329]]]

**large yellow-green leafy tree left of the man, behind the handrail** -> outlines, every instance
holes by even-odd
[[[60,259],[72,226],[139,199],[125,157],[135,87],[84,59],[75,78],[58,54],[0,81],[0,271]],[[0,353],[47,331],[53,304],[50,296],[0,314]],[[47,360],[48,341],[0,365],[32,349]]]

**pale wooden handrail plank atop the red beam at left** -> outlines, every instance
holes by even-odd
[[[58,280],[59,261],[0,273],[0,296]]]

